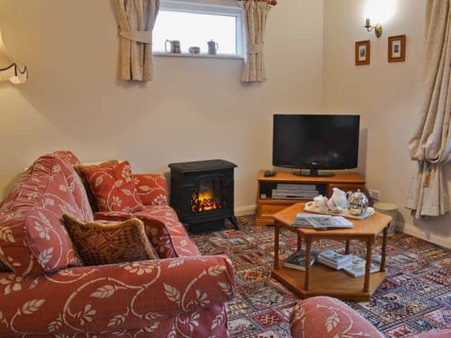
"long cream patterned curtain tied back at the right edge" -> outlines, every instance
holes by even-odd
[[[416,217],[450,211],[444,166],[451,159],[451,0],[428,0],[426,55],[409,151],[416,169],[407,208]]]

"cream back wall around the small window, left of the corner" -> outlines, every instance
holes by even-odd
[[[240,60],[170,57],[154,58],[154,82],[123,82],[116,27],[113,0],[1,0],[4,42],[30,70],[23,85],[0,84],[1,194],[54,149],[128,158],[136,172],[225,158],[239,165],[235,205],[252,209],[272,114],[321,112],[323,1],[273,8],[264,84],[241,84]]]

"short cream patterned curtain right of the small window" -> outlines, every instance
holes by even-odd
[[[241,82],[263,82],[266,80],[264,43],[266,18],[275,1],[239,1],[245,17],[247,31],[247,56],[242,69]]]

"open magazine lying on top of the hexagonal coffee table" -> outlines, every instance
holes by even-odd
[[[352,222],[342,216],[316,215],[314,213],[298,213],[292,223],[292,227],[304,227],[307,229],[326,230],[352,228]]]

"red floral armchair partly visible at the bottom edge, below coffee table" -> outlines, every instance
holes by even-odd
[[[385,337],[342,301],[319,296],[300,301],[290,319],[294,338]],[[404,338],[450,338],[451,329],[412,334]]]

